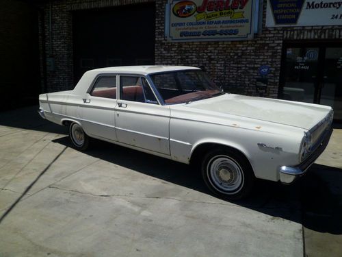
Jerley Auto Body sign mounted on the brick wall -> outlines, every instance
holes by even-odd
[[[166,5],[166,36],[172,41],[253,38],[253,1],[169,0]]]

